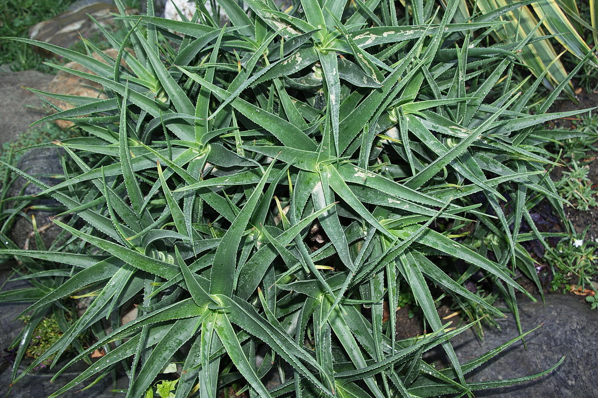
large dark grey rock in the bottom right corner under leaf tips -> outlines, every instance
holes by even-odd
[[[550,294],[542,302],[521,300],[524,332],[543,324],[526,338],[511,345],[495,359],[469,373],[468,381],[519,378],[550,368],[565,356],[565,362],[550,374],[511,387],[478,391],[476,397],[598,397],[598,311],[573,296]],[[512,316],[499,320],[502,332],[486,329],[480,342],[471,329],[451,340],[461,363],[474,359],[518,335]]]

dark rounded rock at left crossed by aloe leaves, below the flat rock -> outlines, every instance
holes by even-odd
[[[60,180],[53,176],[63,173],[61,157],[62,152],[59,148],[33,148],[20,158],[17,168],[47,185],[56,185]],[[41,188],[29,183],[23,177],[15,179],[9,188],[10,197],[36,195],[39,192],[41,192]],[[62,231],[50,220],[50,217],[58,213],[52,208],[56,209],[60,203],[53,198],[38,198],[31,204],[42,207],[42,209],[30,209],[27,214],[35,216],[42,241],[46,247],[50,247]],[[35,238],[32,231],[30,218],[19,218],[11,229],[10,237],[22,249],[33,249],[35,248]]]

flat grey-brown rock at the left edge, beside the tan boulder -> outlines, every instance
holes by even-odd
[[[47,115],[44,102],[23,87],[47,90],[52,75],[37,71],[0,73],[0,145],[17,139]]]

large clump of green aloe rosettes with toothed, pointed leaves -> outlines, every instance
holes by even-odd
[[[120,364],[127,397],[151,395],[173,362],[177,398],[237,382],[261,397],[471,396],[529,379],[466,382],[517,338],[459,363],[450,338],[465,327],[443,324],[435,305],[443,294],[501,316],[464,287],[482,272],[517,314],[515,291],[530,294],[515,274],[539,284],[522,243],[543,241],[530,216],[539,201],[562,213],[542,149],[562,133],[535,127],[573,112],[545,113],[563,81],[526,113],[543,76],[522,94],[509,68],[532,35],[486,46],[474,33],[505,24],[453,23],[458,0],[444,10],[414,2],[400,24],[380,0],[303,0],[285,12],[271,1],[218,4],[231,26],[201,5],[184,22],[154,17],[151,1],[141,17],[119,5],[130,32],[124,42],[105,32],[120,50],[105,62],[90,43],[80,54],[18,39],[86,66],[93,73],[55,65],[107,97],[41,93],[77,105],[41,121],[71,120],[86,134],[55,142],[69,158],[63,182],[7,165],[63,204],[54,222],[66,237],[19,250],[6,235],[25,205],[2,213],[0,254],[18,256],[32,281],[0,293],[32,303],[14,382],[50,357],[56,365],[69,345],[79,354],[56,375],[106,354],[51,397]],[[428,334],[399,340],[395,318],[383,322],[400,286]],[[93,301],[19,373],[36,325],[69,311],[73,295]],[[121,325],[130,304],[138,317]],[[97,338],[90,347],[78,342],[84,331]],[[440,371],[422,359],[438,345],[451,365]],[[281,380],[269,390],[273,369]]]

